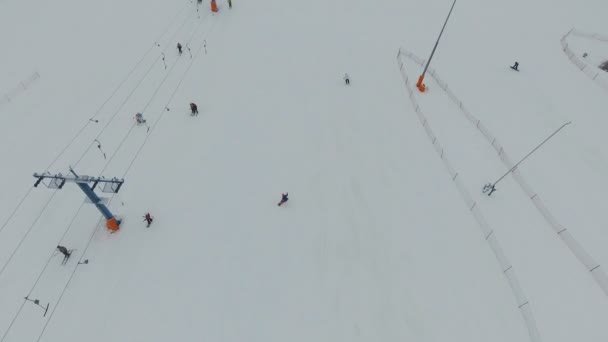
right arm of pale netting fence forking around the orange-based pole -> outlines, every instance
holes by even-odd
[[[426,63],[425,60],[417,57],[411,52],[405,50],[399,50],[399,56],[404,56],[414,61],[417,64],[424,65]],[[511,158],[507,155],[504,148],[498,142],[496,137],[494,137],[490,131],[482,124],[481,120],[477,119],[469,110],[464,106],[462,101],[458,99],[458,97],[452,92],[452,90],[448,87],[447,83],[445,83],[441,78],[437,75],[437,72],[434,69],[429,68],[428,74],[437,82],[437,84],[445,91],[450,100],[460,109],[460,113],[462,113],[469,123],[474,125],[477,130],[486,138],[487,142],[492,145],[494,150],[498,153],[498,157],[504,163],[508,170],[510,170],[515,164],[511,160]],[[546,222],[551,226],[553,231],[561,238],[564,244],[570,249],[572,254],[576,256],[576,258],[584,265],[584,267],[591,273],[599,287],[602,289],[605,295],[608,296],[608,276],[604,269],[600,266],[598,262],[596,262],[593,257],[586,251],[586,249],[574,238],[572,233],[568,229],[566,229],[559,221],[555,218],[555,216],[551,213],[551,211],[547,208],[547,206],[542,201],[541,197],[536,193],[530,185],[525,181],[522,174],[519,172],[517,168],[515,168],[511,175],[517,184],[521,187],[521,189],[526,193],[528,198],[532,201],[536,209],[542,215],[542,217],[546,220]]]

